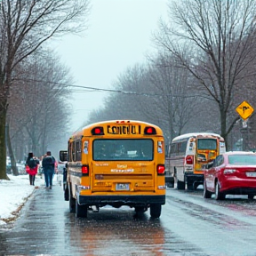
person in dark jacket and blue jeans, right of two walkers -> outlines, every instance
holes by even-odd
[[[52,189],[52,179],[55,170],[55,158],[52,156],[51,151],[46,152],[42,161],[42,167],[44,171],[45,188]]]

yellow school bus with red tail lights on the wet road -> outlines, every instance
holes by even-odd
[[[107,121],[85,126],[68,140],[64,198],[69,211],[87,218],[100,207],[128,205],[150,209],[159,218],[165,204],[164,137],[162,130],[140,121]]]

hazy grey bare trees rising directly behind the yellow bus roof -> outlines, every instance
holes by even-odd
[[[104,109],[92,112],[89,122],[137,119],[159,125],[165,139],[172,140],[174,131],[180,134],[188,124],[189,110],[196,105],[189,83],[188,70],[176,68],[170,56],[159,56],[151,65],[134,65],[118,77],[116,92],[105,100]]]

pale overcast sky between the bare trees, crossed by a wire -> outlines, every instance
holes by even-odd
[[[146,61],[153,52],[151,36],[167,15],[168,0],[91,0],[84,36],[65,36],[57,51],[71,69],[75,84],[110,89],[126,68]],[[76,92],[73,129],[92,109],[102,107],[106,92]]]

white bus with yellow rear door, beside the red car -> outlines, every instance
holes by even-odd
[[[170,172],[177,188],[196,189],[204,184],[204,168],[226,152],[224,139],[216,133],[194,132],[175,137],[170,147]]]

